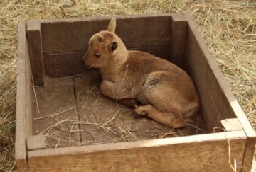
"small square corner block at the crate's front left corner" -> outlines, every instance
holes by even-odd
[[[46,137],[44,135],[34,135],[26,138],[28,151],[35,149],[46,149]]]

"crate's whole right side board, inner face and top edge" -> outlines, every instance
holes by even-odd
[[[188,69],[188,71],[190,71],[189,73],[196,82],[199,95],[201,95],[201,103],[208,105],[208,112],[215,112],[215,115],[204,114],[206,126],[209,126],[208,129],[211,130],[211,127],[218,125],[216,122],[218,122],[220,118],[238,118],[247,135],[242,171],[250,171],[256,142],[255,131],[252,129],[250,122],[240,108],[235,96],[233,96],[232,91],[230,91],[213,57],[211,57],[206,43],[196,31],[196,24],[193,22],[193,19],[188,13],[185,13],[185,16],[189,25],[187,33],[188,41],[186,45],[186,57],[188,58],[187,67],[193,69]],[[203,56],[205,56],[205,58],[203,58]],[[215,76],[213,76],[213,73]],[[205,74],[205,76],[202,76],[202,74]],[[213,94],[208,95],[207,92]],[[223,111],[221,114],[218,113],[218,108],[216,107],[222,108],[221,110]],[[203,108],[201,108],[201,110],[202,109]],[[203,109],[203,111],[206,112],[206,109]]]

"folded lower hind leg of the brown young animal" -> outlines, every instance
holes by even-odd
[[[161,113],[159,110],[154,108],[153,105],[141,105],[134,109],[134,112],[137,113],[137,115],[146,115],[151,117],[152,119],[156,120],[156,122],[169,127],[185,127],[186,123],[181,115],[181,112],[179,112],[179,110],[176,108],[170,108],[169,110],[170,111],[168,113]]]

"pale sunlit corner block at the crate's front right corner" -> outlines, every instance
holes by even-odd
[[[242,125],[240,124],[238,118],[221,120],[220,123],[227,132],[242,130]]]

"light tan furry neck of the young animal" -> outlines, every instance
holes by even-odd
[[[112,60],[107,62],[105,67],[100,69],[102,78],[108,81],[114,81],[120,72],[120,68],[127,61],[128,57],[129,55],[127,48],[124,46],[124,44],[119,44],[116,52],[114,52],[111,57]]]

